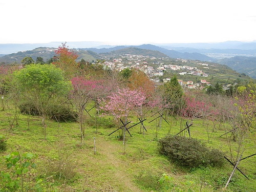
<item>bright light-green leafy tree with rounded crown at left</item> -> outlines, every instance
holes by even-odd
[[[34,104],[42,117],[46,138],[45,121],[50,112],[51,103],[70,91],[71,82],[65,80],[62,70],[52,64],[32,64],[16,71],[13,75],[18,91]]]

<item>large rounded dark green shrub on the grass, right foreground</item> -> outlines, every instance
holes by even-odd
[[[168,135],[159,140],[160,153],[170,160],[187,167],[222,165],[223,153],[217,149],[210,150],[199,140],[182,136]]]

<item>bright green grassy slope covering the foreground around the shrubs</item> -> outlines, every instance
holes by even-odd
[[[45,182],[47,191],[172,191],[164,190],[158,184],[164,173],[173,178],[172,183],[176,185],[173,191],[188,191],[188,188],[193,191],[220,191],[232,172],[232,166],[228,162],[222,168],[181,168],[158,153],[157,138],[165,136],[169,130],[171,134],[178,133],[180,129],[184,129],[185,121],[180,126],[180,121],[166,117],[172,125],[163,121],[156,138],[156,122],[148,123],[154,118],[148,116],[145,135],[139,134],[139,125],[130,129],[133,137],[127,134],[124,153],[124,145],[117,139],[118,132],[108,136],[115,127],[106,128],[109,124],[107,119],[101,120],[97,133],[94,123],[89,120],[92,125],[87,125],[86,138],[79,145],[77,123],[58,124],[48,121],[45,140],[39,117],[31,117],[28,129],[27,116],[20,115],[19,124],[10,130],[7,117],[11,117],[11,113],[11,110],[0,111],[0,133],[6,136],[8,147],[0,155],[7,155],[17,147],[20,153],[35,153],[38,156],[35,161],[35,177],[48,181]],[[135,124],[136,119],[130,117],[130,120]],[[208,127],[212,130],[211,124]],[[202,139],[208,146],[221,148],[228,154],[225,137],[219,137],[227,130],[227,125],[221,126],[207,142],[206,124],[203,126],[202,120],[194,121],[190,127],[193,138]],[[235,147],[236,143],[232,142],[231,145]],[[254,154],[254,149],[255,142],[250,140],[243,157]],[[250,180],[235,172],[229,191],[255,191],[255,163],[255,156],[241,161],[239,168]],[[2,162],[0,169],[4,169],[4,166]],[[61,170],[61,175],[56,174],[57,168]]]

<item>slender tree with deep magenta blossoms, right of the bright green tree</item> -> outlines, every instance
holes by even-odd
[[[71,79],[73,90],[71,91],[71,97],[75,104],[80,127],[80,139],[84,137],[84,111],[86,110],[87,103],[92,99],[97,92],[103,89],[103,87],[96,80],[89,80],[84,77],[74,77]]]

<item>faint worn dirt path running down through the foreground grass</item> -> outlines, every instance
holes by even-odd
[[[123,191],[133,191],[140,192],[143,191],[139,189],[135,183],[130,179],[130,176],[125,173],[124,162],[122,162],[116,155],[123,152],[123,148],[120,145],[114,145],[110,141],[104,139],[99,139],[97,141],[97,153],[106,156],[108,162],[115,167],[115,178],[119,183],[123,183],[125,190]],[[114,190],[115,191],[115,190]]]

